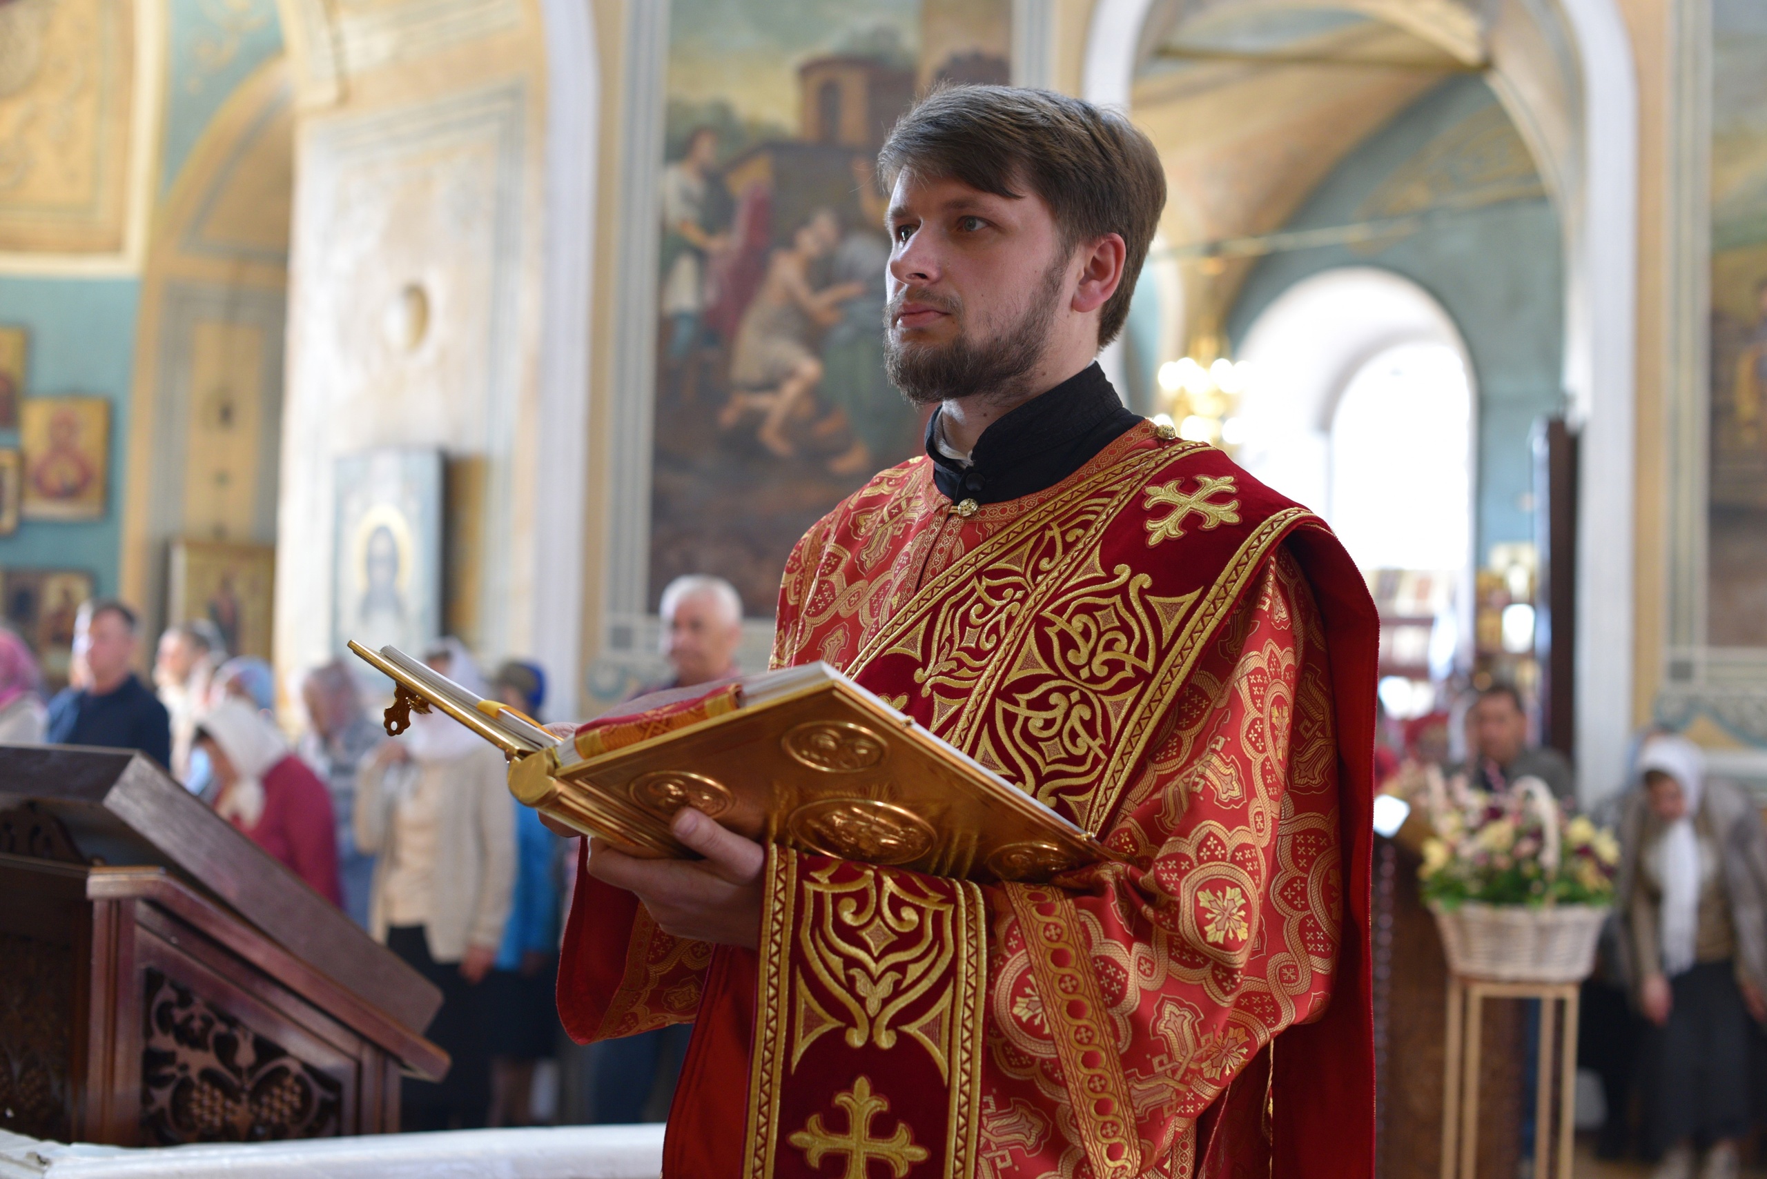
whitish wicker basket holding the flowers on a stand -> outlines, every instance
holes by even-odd
[[[1596,969],[1606,905],[1430,905],[1447,967],[1502,983],[1580,983]]]

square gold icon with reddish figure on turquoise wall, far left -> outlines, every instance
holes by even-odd
[[[27,397],[19,406],[19,418],[25,519],[101,519],[110,468],[110,401]]]

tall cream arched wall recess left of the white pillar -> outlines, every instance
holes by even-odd
[[[262,14],[274,25],[274,9]],[[150,627],[207,612],[207,602],[168,598],[177,542],[249,545],[263,559],[276,544],[293,184],[286,58],[267,53],[203,115],[141,277],[118,591]],[[249,556],[240,549],[233,561]],[[262,625],[231,630],[235,653],[269,657]]]

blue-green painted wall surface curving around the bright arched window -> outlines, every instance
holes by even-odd
[[[1495,102],[1475,78],[1437,86],[1345,157],[1286,228],[1361,221],[1359,208],[1382,182],[1437,136]],[[1505,201],[1437,217],[1378,251],[1329,245],[1272,254],[1240,288],[1228,337],[1242,339],[1270,300],[1336,267],[1398,272],[1452,316],[1472,355],[1477,388],[1479,559],[1490,558],[1493,544],[1532,540],[1528,431],[1564,408],[1564,251],[1550,201]]]

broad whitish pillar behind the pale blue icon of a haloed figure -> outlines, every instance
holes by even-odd
[[[456,494],[449,628],[486,658],[532,635],[544,247],[544,25],[535,5],[412,0],[299,23],[276,658],[339,646],[334,471],[440,450]],[[323,58],[323,46],[341,51]],[[426,559],[435,559],[428,554]],[[428,586],[435,593],[435,586]],[[413,614],[415,616],[415,614]],[[383,639],[396,641],[396,639]],[[424,637],[405,637],[421,644]]]

